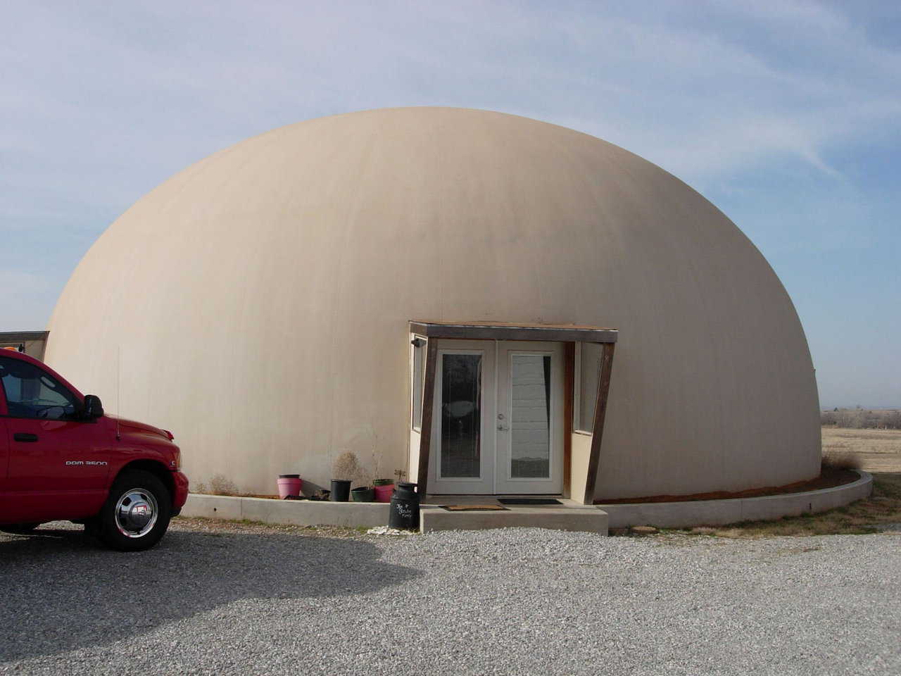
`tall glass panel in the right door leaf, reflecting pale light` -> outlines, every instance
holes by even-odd
[[[510,476],[551,476],[551,355],[514,354],[510,364]]]

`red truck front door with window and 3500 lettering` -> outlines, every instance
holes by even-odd
[[[114,438],[109,421],[80,419],[81,402],[50,373],[0,356],[6,399],[5,510],[22,521],[96,514]]]

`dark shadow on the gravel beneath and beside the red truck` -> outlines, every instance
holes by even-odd
[[[380,555],[359,540],[296,534],[169,531],[141,553],[99,549],[79,530],[4,538],[0,662],[140,640],[157,626],[242,598],[303,603],[376,591],[420,574],[381,562]]]

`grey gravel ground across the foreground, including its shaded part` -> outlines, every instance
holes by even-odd
[[[898,674],[901,533],[0,534],[0,673]]]

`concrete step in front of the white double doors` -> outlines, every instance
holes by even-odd
[[[597,507],[508,507],[505,510],[449,512],[423,506],[420,531],[470,531],[487,528],[550,528],[607,534],[607,513]]]

